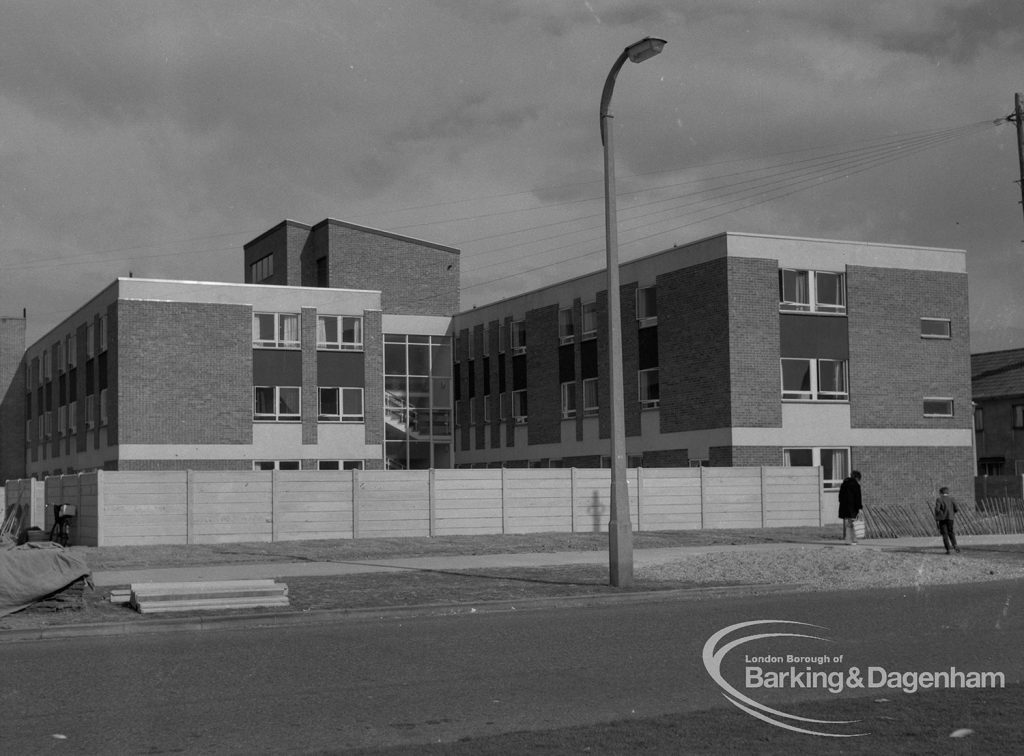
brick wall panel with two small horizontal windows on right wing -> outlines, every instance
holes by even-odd
[[[971,427],[967,297],[964,274],[847,269],[853,427]],[[922,318],[948,318],[952,337],[923,339]],[[925,396],[952,398],[954,416],[924,417]]]

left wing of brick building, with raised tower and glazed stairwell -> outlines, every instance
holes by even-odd
[[[245,263],[118,279],[30,346],[20,474],[451,465],[458,250],[286,220]]]

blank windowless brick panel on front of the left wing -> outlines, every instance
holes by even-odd
[[[120,443],[252,443],[250,307],[123,300],[118,323]],[[84,398],[81,331],[78,342]],[[79,415],[81,428],[82,402]]]

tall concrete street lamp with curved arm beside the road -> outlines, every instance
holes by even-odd
[[[625,50],[608,72],[601,93],[601,143],[604,145],[604,238],[608,265],[608,391],[611,397],[611,514],[608,520],[608,582],[633,585],[633,526],[626,479],[626,412],[623,400],[623,323],[618,292],[618,232],[615,219],[615,165],[608,104],[615,77],[627,59],[643,62],[665,47],[664,39],[645,37]]]

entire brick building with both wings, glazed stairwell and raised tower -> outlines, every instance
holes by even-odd
[[[244,261],[119,279],[31,345],[23,473],[606,463],[603,272],[459,312],[458,250],[333,219]],[[630,464],[970,490],[964,252],[722,234],[622,282]]]

